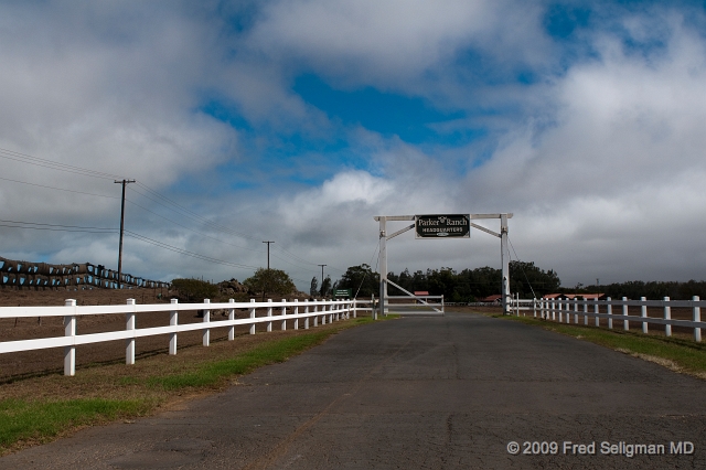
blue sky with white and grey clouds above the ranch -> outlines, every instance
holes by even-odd
[[[6,258],[117,269],[128,179],[145,278],[271,241],[308,291],[376,267],[376,215],[513,213],[564,286],[706,279],[704,1],[0,1],[0,63]],[[501,266],[481,231],[387,254]]]

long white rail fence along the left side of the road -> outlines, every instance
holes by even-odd
[[[299,302],[295,300],[282,300],[281,302],[229,302],[211,303],[208,299],[203,303],[179,303],[172,299],[171,303],[137,305],[135,299],[128,299],[124,306],[77,306],[76,300],[68,299],[64,307],[0,307],[0,319],[23,318],[23,317],[63,317],[64,335],[55,338],[41,338],[33,340],[4,341],[0,342],[0,353],[11,353],[19,351],[33,351],[47,348],[64,348],[64,375],[76,373],[76,345],[100,343],[105,341],[126,340],[126,364],[135,364],[135,342],[137,338],[152,337],[157,334],[170,334],[169,354],[176,354],[178,334],[185,331],[203,330],[203,345],[211,343],[211,330],[214,328],[227,328],[228,341],[235,339],[236,325],[249,325],[249,333],[255,334],[257,323],[266,323],[267,331],[272,331],[272,323],[281,322],[280,328],[287,329],[287,321],[293,321],[293,329],[299,329],[299,320],[303,320],[303,328],[332,323],[343,319],[357,317],[360,309],[356,300],[318,300]],[[211,310],[225,309],[228,313],[227,320],[211,321]],[[235,318],[235,309],[248,309],[249,318]],[[256,309],[266,309],[265,317],[256,317]],[[279,314],[274,314],[275,309]],[[185,310],[203,311],[203,321],[200,323],[179,324],[179,312]],[[138,313],[169,311],[169,325],[138,329],[136,319]],[[93,314],[120,314],[126,318],[125,330],[110,331],[105,333],[76,334],[76,319],[83,316]]]

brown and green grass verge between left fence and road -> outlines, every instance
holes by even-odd
[[[0,455],[217,392],[237,384],[239,375],[287,361],[343,329],[370,322],[364,317],[315,330],[244,334],[210,348],[183,349],[175,356],[156,354],[130,366],[94,364],[73,377],[52,373],[8,381],[0,385]]]

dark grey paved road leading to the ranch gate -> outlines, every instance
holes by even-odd
[[[706,468],[704,382],[506,320],[378,322],[239,382],[0,468]],[[513,440],[556,441],[559,453],[512,456]],[[680,440],[694,453],[671,455]],[[563,441],[596,442],[596,455],[563,455]],[[601,441],[666,453],[605,456]]]

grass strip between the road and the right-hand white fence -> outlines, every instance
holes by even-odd
[[[581,324],[555,323],[532,317],[499,316],[524,324],[542,327],[579,340],[590,341],[668,367],[675,372],[706,378],[706,344],[678,338],[631,331],[607,330]]]

